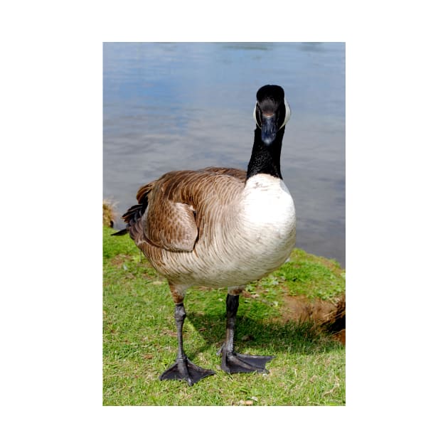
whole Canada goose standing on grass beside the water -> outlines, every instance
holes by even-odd
[[[289,115],[282,87],[261,87],[247,172],[171,171],[142,186],[137,206],[122,217],[127,228],[117,234],[129,233],[154,269],[168,279],[174,299],[178,355],[161,380],[193,385],[215,373],[193,364],[183,351],[183,297],[193,285],[228,287],[226,337],[218,352],[221,368],[228,373],[267,372],[265,365],[273,356],[236,353],[233,336],[245,285],[276,270],[294,247],[294,202],[280,172]]]

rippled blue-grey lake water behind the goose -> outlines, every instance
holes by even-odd
[[[292,115],[281,167],[297,247],[345,266],[344,43],[103,45],[103,194],[119,215],[166,171],[246,169],[255,94],[282,85]]]

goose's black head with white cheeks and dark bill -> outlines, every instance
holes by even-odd
[[[254,119],[261,129],[262,142],[269,146],[274,142],[279,129],[282,129],[291,110],[284,98],[284,90],[279,85],[264,85],[257,92],[257,102],[254,108]]]

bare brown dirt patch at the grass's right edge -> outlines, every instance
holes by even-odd
[[[338,298],[336,304],[324,300],[310,301],[306,297],[286,295],[282,307],[283,322],[302,321],[312,322],[316,326],[329,331],[334,338],[346,343],[346,297]]]

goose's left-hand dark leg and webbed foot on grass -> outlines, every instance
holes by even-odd
[[[208,375],[214,375],[213,370],[207,370],[193,364],[183,351],[183,337],[182,328],[183,321],[185,320],[186,311],[183,307],[183,303],[176,304],[174,309],[174,319],[176,319],[177,327],[177,341],[178,341],[178,353],[176,362],[169,368],[167,368],[164,373],[160,375],[161,380],[186,380],[188,385],[193,385],[197,383],[202,378]]]

